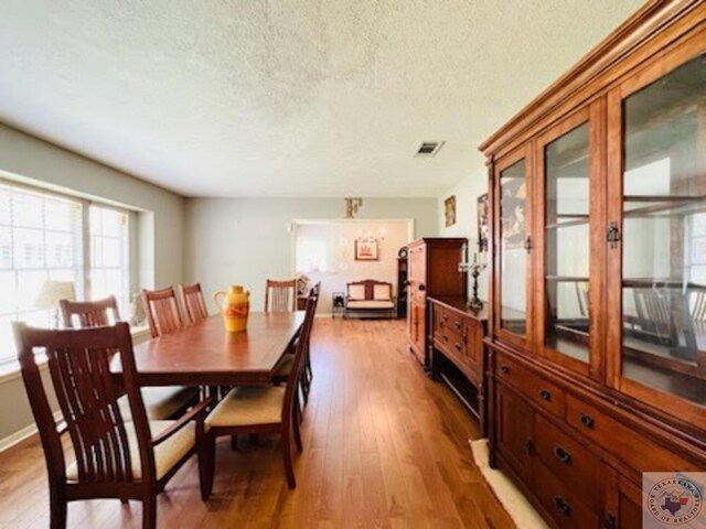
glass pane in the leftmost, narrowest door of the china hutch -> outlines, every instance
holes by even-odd
[[[524,335],[527,326],[527,251],[524,248],[527,237],[527,192],[524,159],[500,173],[500,325],[506,331]]]

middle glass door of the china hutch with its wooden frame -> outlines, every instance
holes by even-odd
[[[544,298],[536,300],[539,350],[584,374],[589,373],[592,290],[590,147],[586,108],[539,137],[536,148],[537,196],[544,202],[537,228],[544,270],[538,278]]]

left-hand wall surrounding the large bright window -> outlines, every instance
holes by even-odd
[[[0,174],[46,184],[56,191],[110,199],[139,214],[143,285],[182,281],[184,201],[156,185],[115,171],[51,143],[0,125]],[[0,380],[0,441],[33,423],[22,380]]]

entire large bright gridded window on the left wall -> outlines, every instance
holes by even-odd
[[[0,364],[17,358],[11,322],[46,327],[56,312],[34,303],[46,280],[76,298],[114,294],[128,315],[128,212],[0,180]]]

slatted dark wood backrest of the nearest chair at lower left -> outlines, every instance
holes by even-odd
[[[154,454],[137,373],[130,328],[115,326],[85,330],[31,328],[14,323],[22,378],[40,432],[50,483],[66,481],[61,435],[68,433],[79,483],[132,481],[126,423],[120,414],[120,387],[110,373],[110,358],[120,355],[124,388],[137,432],[142,481],[154,476]],[[49,371],[66,428],[57,431],[42,384],[35,353],[46,354]],[[132,454],[135,455],[135,454]],[[148,474],[149,473],[149,474]]]

